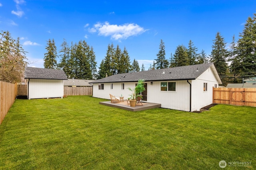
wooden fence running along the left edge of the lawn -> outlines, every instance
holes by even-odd
[[[0,124],[17,96],[17,84],[0,81]]]

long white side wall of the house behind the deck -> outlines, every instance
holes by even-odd
[[[176,91],[161,91],[161,82],[176,82]],[[104,90],[98,89],[98,84],[93,84],[93,97],[110,99],[109,94],[116,97],[120,97],[121,94],[124,100],[127,100],[131,92],[127,89],[128,87],[134,88],[137,82],[124,82],[124,89],[122,90],[122,83],[112,83],[113,89],[110,89],[111,83],[103,83]],[[147,102],[161,104],[161,107],[168,109],[177,109],[183,111],[189,111],[190,109],[190,98],[189,90],[190,86],[186,80],[178,81],[158,81],[147,83]]]

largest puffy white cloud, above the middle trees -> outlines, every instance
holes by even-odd
[[[130,36],[140,35],[147,30],[134,23],[110,25],[108,22],[105,22],[94,24],[94,27],[89,28],[88,31],[90,33],[98,32],[98,35],[111,36],[111,39],[120,40],[127,39]]]

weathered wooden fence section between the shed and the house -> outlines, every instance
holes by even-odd
[[[92,86],[64,86],[64,96],[92,95]]]

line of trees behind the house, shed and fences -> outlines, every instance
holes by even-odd
[[[12,39],[8,31],[2,31],[0,35],[0,79],[19,82],[27,64],[26,52],[22,49],[19,38]],[[150,64],[149,70],[213,62],[224,85],[228,82],[239,83],[243,78],[256,76],[256,14],[252,18],[248,17],[238,40],[233,36],[229,47],[226,45],[224,37],[217,32],[210,55],[204,50],[198,53],[198,48],[190,40],[188,47],[178,45],[174,54],[171,53],[170,58],[166,59],[164,41],[161,39],[156,59]],[[63,69],[68,78],[100,79],[113,74],[145,70],[144,64],[140,69],[135,59],[130,62],[126,47],[121,50],[119,45],[114,47],[113,43],[108,44],[98,71],[93,47],[86,41],[80,40],[69,46],[64,39],[60,47],[57,53],[54,39],[47,41],[44,67]],[[60,57],[59,63],[57,57]]]

